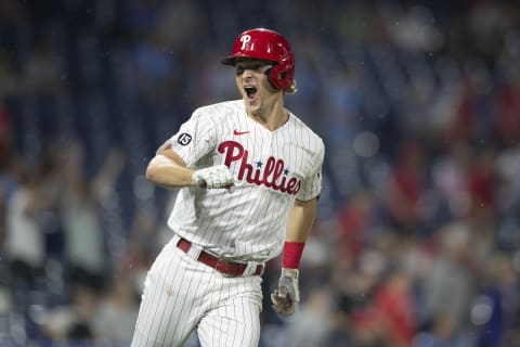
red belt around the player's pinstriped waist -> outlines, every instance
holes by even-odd
[[[192,243],[185,239],[180,239],[179,242],[177,243],[177,247],[181,249],[184,253],[188,253],[190,248],[192,248]],[[260,275],[263,272],[263,264],[257,264],[255,262],[253,266],[255,268],[250,268],[247,264],[242,264],[242,262],[232,262],[232,261],[225,261],[220,258],[217,258],[216,256],[205,252],[200,250],[200,254],[197,257],[197,260],[207,265],[210,268],[216,269],[220,273],[224,274],[225,277],[240,277],[240,275]],[[246,270],[248,270],[249,267],[249,273],[246,273]]]

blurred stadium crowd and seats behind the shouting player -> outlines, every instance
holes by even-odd
[[[327,147],[261,346],[520,346],[520,7],[485,0],[0,1],[0,346],[128,346],[176,195],[147,162],[259,26]]]

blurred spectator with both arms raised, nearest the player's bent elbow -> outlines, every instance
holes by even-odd
[[[84,149],[69,145],[64,163],[62,218],[67,272],[73,283],[102,290],[105,284],[106,237],[100,204],[113,193],[125,157],[113,151],[93,178],[84,176]]]

